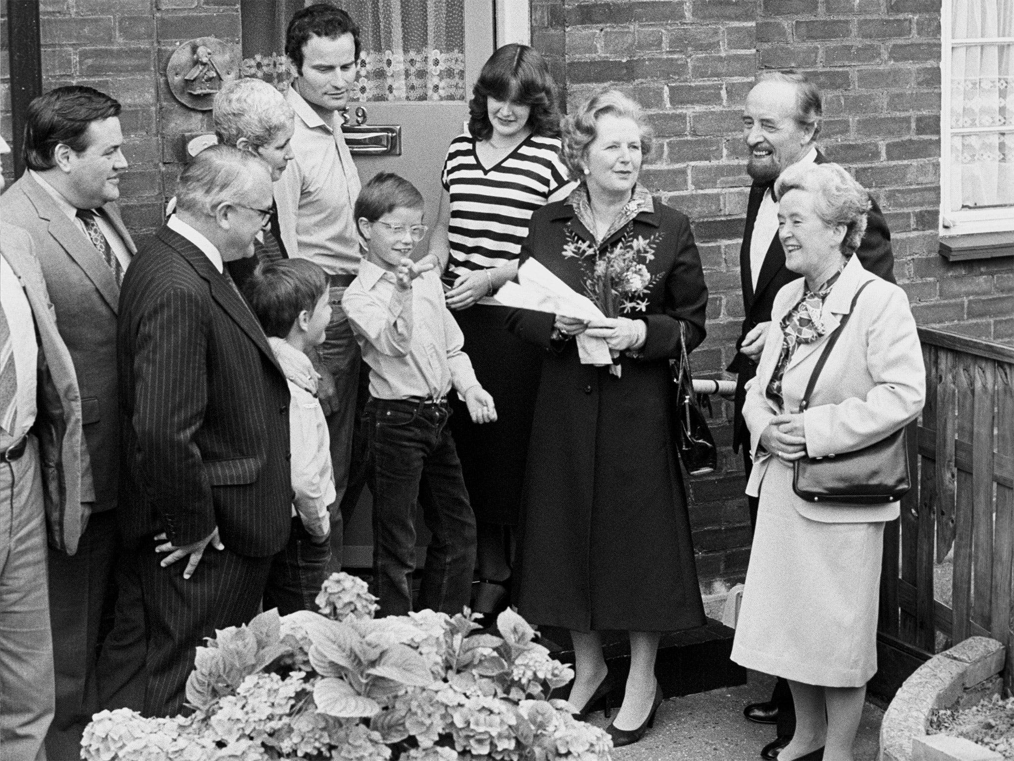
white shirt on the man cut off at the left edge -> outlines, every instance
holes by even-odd
[[[3,305],[13,344],[17,392],[14,395],[14,430],[0,428],[0,448],[16,443],[35,422],[35,382],[39,373],[39,344],[34,319],[24,286],[7,260],[0,256],[0,304]]]

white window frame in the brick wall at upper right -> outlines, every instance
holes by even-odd
[[[950,145],[954,133],[951,119],[951,72],[954,41],[951,39],[951,23],[954,0],[943,0],[940,24],[940,234],[968,235],[981,232],[1014,231],[1014,205],[989,209],[950,210],[951,163]],[[993,40],[993,38],[984,38]],[[998,43],[1014,45],[1014,38],[997,38]],[[1014,132],[1014,125],[1009,125]],[[999,132],[1000,130],[977,130]],[[968,134],[968,133],[965,133]]]

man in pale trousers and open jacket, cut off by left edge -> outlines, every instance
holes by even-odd
[[[9,152],[0,138],[0,153]],[[77,550],[82,455],[87,463],[81,447],[77,377],[57,331],[31,237],[0,222],[0,754],[4,758],[46,759],[44,741],[55,703],[47,528],[52,546],[69,554]],[[44,462],[56,471],[45,479]]]

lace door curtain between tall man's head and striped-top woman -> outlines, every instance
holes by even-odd
[[[361,29],[357,100],[464,100],[465,0],[343,0]]]

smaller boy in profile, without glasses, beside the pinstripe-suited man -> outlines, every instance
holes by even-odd
[[[328,276],[306,259],[262,264],[244,293],[268,335],[289,386],[289,448],[292,454],[292,533],[275,556],[264,595],[265,610],[281,615],[316,611],[314,602],[331,557],[335,479],[331,437],[317,401],[319,375],[305,352],[323,342],[331,320]]]

